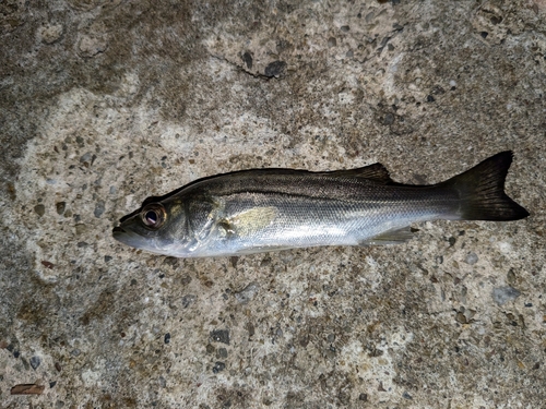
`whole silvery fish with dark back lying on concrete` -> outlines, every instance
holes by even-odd
[[[195,180],[114,227],[117,241],[175,257],[237,256],[325,245],[397,244],[425,220],[519,220],[505,193],[513,153],[437,184],[393,181],[387,168],[250,169]]]

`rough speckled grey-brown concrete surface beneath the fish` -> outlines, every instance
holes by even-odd
[[[544,407],[546,2],[7,0],[0,33],[1,408]],[[505,149],[526,220],[213,260],[110,237],[218,172],[430,183]]]

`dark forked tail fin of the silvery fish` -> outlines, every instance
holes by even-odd
[[[519,220],[529,212],[505,193],[505,180],[512,164],[511,151],[501,152],[474,168],[441,183],[461,199],[463,220]]]

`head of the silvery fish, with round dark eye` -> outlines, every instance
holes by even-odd
[[[185,206],[178,201],[144,203],[120,219],[114,239],[152,253],[180,256],[191,245]]]

